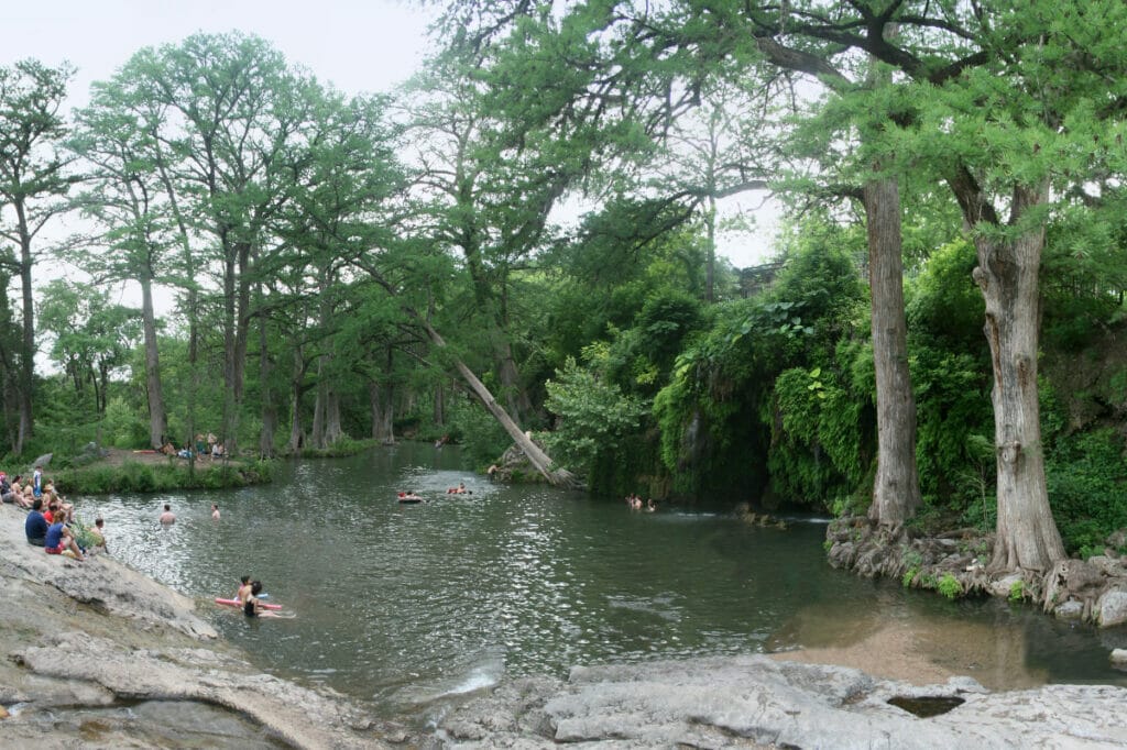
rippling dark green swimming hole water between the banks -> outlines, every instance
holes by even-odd
[[[106,518],[110,554],[197,597],[264,669],[387,715],[433,712],[503,675],[850,646],[887,623],[917,634],[913,649],[931,662],[992,687],[1127,684],[1108,666],[1108,651],[1127,645],[1122,631],[857,579],[826,565],[817,520],[781,533],[721,514],[631,512],[458,466],[453,448],[408,444],[287,463],[269,486],[78,505]],[[460,481],[472,494],[445,493]],[[401,506],[400,489],[427,501]],[[170,528],[157,523],[165,502],[179,518]],[[296,616],[252,620],[214,606],[242,574]]]

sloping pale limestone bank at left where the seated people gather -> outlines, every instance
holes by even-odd
[[[384,748],[433,742],[254,668],[195,602],[114,561],[27,544],[0,506],[0,747]]]

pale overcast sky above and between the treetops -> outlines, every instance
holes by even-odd
[[[419,68],[429,48],[432,9],[410,0],[0,0],[0,64],[35,57],[78,68],[72,106],[147,46],[197,32],[240,30],[272,43],[321,81],[349,92],[389,91]],[[747,206],[758,196],[747,196]],[[729,200],[729,211],[736,204]],[[757,236],[722,238],[737,266],[761,262],[773,212],[757,212]]]

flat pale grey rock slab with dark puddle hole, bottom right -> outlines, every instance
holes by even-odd
[[[957,697],[917,717],[897,696]],[[988,693],[969,678],[917,687],[844,667],[745,655],[577,668],[516,680],[452,714],[452,747],[1122,748],[1127,689],[1050,685]]]

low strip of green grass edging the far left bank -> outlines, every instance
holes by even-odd
[[[201,462],[193,470],[187,462],[152,464],[124,461],[121,464],[60,468],[51,472],[51,479],[63,494],[220,490],[265,484],[273,479],[274,465],[272,461]]]

